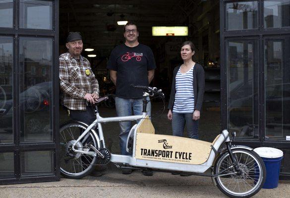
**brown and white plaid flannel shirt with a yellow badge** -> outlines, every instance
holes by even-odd
[[[80,56],[78,61],[68,52],[59,56],[59,86],[61,104],[71,110],[86,110],[87,93],[99,95],[99,83],[88,59]]]

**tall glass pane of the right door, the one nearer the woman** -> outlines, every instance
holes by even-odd
[[[258,139],[258,39],[227,41],[228,129]]]

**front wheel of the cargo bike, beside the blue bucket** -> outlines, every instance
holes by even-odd
[[[266,168],[262,158],[253,150],[243,148],[232,150],[236,157],[239,173],[235,173],[230,153],[225,152],[218,159],[214,173],[224,171],[215,178],[218,188],[231,198],[249,198],[260,191],[265,183]],[[226,175],[228,174],[228,175]],[[223,176],[224,175],[224,176]]]

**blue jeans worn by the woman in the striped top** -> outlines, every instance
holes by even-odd
[[[189,138],[198,139],[198,120],[192,119],[193,113],[173,113],[172,131],[174,136],[183,137],[186,123],[187,135]]]

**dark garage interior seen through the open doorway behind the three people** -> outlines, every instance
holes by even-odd
[[[168,102],[174,67],[182,63],[180,45],[192,41],[196,47],[194,61],[205,69],[205,95],[199,122],[200,140],[212,142],[220,133],[220,17],[217,0],[60,0],[59,54],[65,52],[65,39],[70,31],[81,32],[84,49],[100,84],[100,95],[114,93],[107,60],[112,49],[124,43],[123,25],[117,21],[134,21],[139,43],[149,46],[157,68],[151,86],[164,91]],[[152,36],[152,26],[187,26],[188,36]],[[96,57],[88,57],[96,54]],[[152,122],[158,134],[172,134],[167,120],[167,103],[163,111],[160,100],[152,100]],[[110,106],[112,107],[112,106]],[[60,110],[60,124],[68,117]],[[116,116],[108,105],[100,106],[103,117]],[[105,138],[112,152],[118,152],[118,123],[104,126]],[[186,134],[185,134],[186,136]],[[108,144],[108,143],[107,143]],[[113,145],[113,146],[112,146]]]

